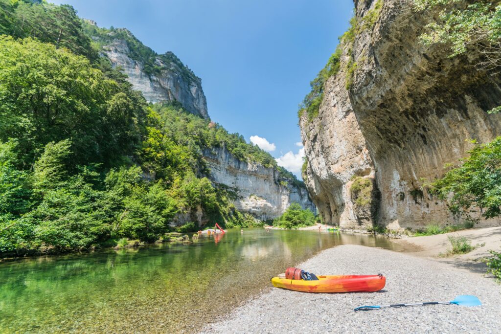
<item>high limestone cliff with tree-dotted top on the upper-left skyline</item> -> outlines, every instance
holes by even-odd
[[[97,28],[91,20],[86,20],[85,28],[102,55],[122,69],[148,102],[177,101],[190,113],[209,118],[200,78],[172,52],[157,55],[127,29]]]

